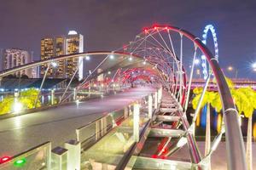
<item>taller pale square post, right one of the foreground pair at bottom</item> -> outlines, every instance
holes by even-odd
[[[77,140],[69,140],[64,146],[67,149],[67,169],[80,170],[81,144]]]

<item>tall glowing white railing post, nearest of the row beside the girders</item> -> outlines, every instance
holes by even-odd
[[[133,139],[138,142],[140,139],[140,105],[133,105]]]

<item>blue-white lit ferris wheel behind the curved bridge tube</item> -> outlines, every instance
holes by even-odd
[[[213,44],[214,44],[214,56],[215,58],[218,60],[218,42],[217,42],[217,34],[216,31],[214,29],[214,26],[212,25],[207,25],[203,31],[203,35],[202,35],[202,42],[207,45],[207,35],[208,32],[210,32],[212,34],[212,38],[213,38]],[[209,66],[207,66],[207,59],[205,55],[201,55],[201,66],[203,68],[203,75],[204,75],[204,79],[206,80],[209,74]]]

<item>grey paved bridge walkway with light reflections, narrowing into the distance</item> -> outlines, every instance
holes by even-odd
[[[47,111],[16,116],[0,121],[0,157],[15,156],[46,141],[52,146],[75,139],[75,129],[154,92],[154,88],[133,88],[102,99],[66,105]]]

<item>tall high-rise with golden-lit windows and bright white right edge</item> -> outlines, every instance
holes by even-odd
[[[78,54],[84,52],[84,38],[76,31],[69,31],[67,36],[56,38],[44,38],[41,40],[41,60],[50,59],[53,57],[65,54]],[[48,77],[71,78],[73,73],[79,66],[78,78],[83,78],[83,59],[61,59],[57,63],[57,68],[49,68]],[[47,65],[41,67],[41,77]]]

